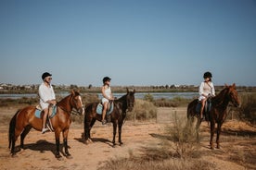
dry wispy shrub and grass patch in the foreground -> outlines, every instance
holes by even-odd
[[[140,155],[130,154],[129,158],[111,159],[98,168],[111,170],[155,170],[155,169],[214,169],[210,162],[198,160],[201,153],[195,142],[195,133],[190,133],[182,119],[175,116],[174,127],[166,128],[164,136],[157,136],[161,142],[144,149]]]

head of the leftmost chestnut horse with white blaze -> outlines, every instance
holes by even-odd
[[[82,97],[79,93],[79,91],[71,91],[70,92],[70,104],[73,108],[75,108],[80,115],[83,115],[84,109],[83,109],[83,102]]]

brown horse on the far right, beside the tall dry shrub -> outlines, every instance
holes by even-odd
[[[213,149],[213,143],[212,139],[215,132],[215,124],[217,123],[217,148],[220,148],[220,134],[221,134],[221,128],[224,123],[224,120],[227,116],[227,106],[228,103],[233,103],[234,106],[239,106],[239,100],[236,90],[236,84],[234,83],[232,86],[225,85],[224,90],[220,91],[218,95],[211,98],[211,110],[210,110],[210,123],[211,123],[211,140],[210,140],[210,146],[211,149]],[[199,114],[196,112],[196,107],[198,104],[198,99],[195,99],[191,103],[188,103],[187,106],[187,120],[190,125],[193,122],[194,117],[197,117],[197,135],[198,135],[198,128],[201,124],[201,119],[199,118]]]

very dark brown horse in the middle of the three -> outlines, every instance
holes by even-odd
[[[110,121],[113,123],[113,146],[116,145],[115,138],[117,132],[117,126],[119,131],[119,143],[122,145],[122,124],[123,120],[126,116],[126,111],[129,112],[134,108],[134,93],[135,91],[129,91],[127,89],[127,93],[123,95],[121,98],[113,101],[114,108],[110,114]],[[85,114],[84,114],[84,131],[83,131],[83,140],[85,143],[92,142],[90,131],[93,128],[96,120],[102,121],[102,115],[98,115],[96,113],[96,106],[97,102],[95,103],[88,103],[85,106]]]

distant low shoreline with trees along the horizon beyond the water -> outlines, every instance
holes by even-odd
[[[54,90],[56,92],[62,91],[70,91],[70,90],[79,90],[84,93],[98,93],[101,91],[101,87],[93,87],[93,86],[77,86],[77,85],[53,85]],[[23,93],[37,93],[39,85],[24,85],[24,86],[16,86],[11,84],[1,84],[0,83],[0,94],[23,94]],[[214,86],[215,91],[221,91],[224,89],[224,86]],[[165,85],[165,86],[111,86],[111,90],[113,92],[126,92],[127,89],[129,91],[135,90],[137,92],[197,92],[198,86],[193,85]],[[248,87],[248,86],[237,86],[237,91],[242,92],[256,92],[256,87]]]

